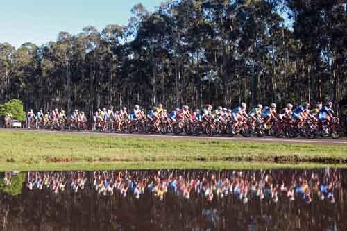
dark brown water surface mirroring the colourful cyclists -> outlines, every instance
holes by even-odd
[[[28,172],[25,178],[2,173],[1,228],[347,230],[345,173],[65,171]]]

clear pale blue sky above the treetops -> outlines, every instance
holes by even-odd
[[[60,31],[72,34],[85,26],[99,31],[108,24],[126,25],[135,3],[153,11],[162,0],[3,0],[0,4],[0,43],[19,47],[56,40]]]

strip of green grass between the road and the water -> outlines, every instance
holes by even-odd
[[[346,146],[0,131],[0,171],[312,168],[346,162]]]

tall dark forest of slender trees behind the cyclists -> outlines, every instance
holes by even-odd
[[[127,25],[57,31],[40,46],[0,43],[0,103],[91,115],[242,101],[330,100],[338,110],[346,98],[346,1],[180,0],[131,13]]]

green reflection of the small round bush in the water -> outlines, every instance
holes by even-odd
[[[19,195],[22,192],[23,183],[25,182],[25,173],[10,176],[10,183],[6,181],[5,177],[0,179],[0,190],[12,196]]]

